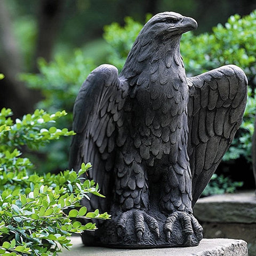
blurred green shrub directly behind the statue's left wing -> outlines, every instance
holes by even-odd
[[[21,79],[30,88],[41,90],[44,100],[38,102],[37,108],[46,109],[50,113],[59,109],[67,111],[67,115],[58,121],[58,127],[70,129],[76,95],[95,65],[90,59],[84,58],[82,51],[76,50],[71,60],[59,55],[50,63],[39,59],[38,68],[39,74],[21,74]],[[30,157],[35,158],[34,162],[41,172],[63,170],[68,166],[69,145],[70,140],[54,141],[47,148],[39,149],[40,153],[45,154],[43,159],[37,155]]]

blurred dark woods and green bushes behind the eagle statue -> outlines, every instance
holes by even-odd
[[[234,63],[245,70],[250,85],[243,125],[205,195],[252,189],[254,9],[256,1],[250,0],[0,0],[0,73],[5,75],[0,107],[11,108],[14,118],[36,108],[65,109],[69,114],[58,125],[70,129],[75,97],[90,71],[101,63],[121,69],[151,15],[179,12],[198,22],[196,31],[182,37],[187,74]],[[25,154],[35,159],[37,171],[58,172],[68,166],[68,145],[66,139]]]

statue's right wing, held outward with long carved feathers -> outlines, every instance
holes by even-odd
[[[247,78],[234,65],[188,78],[188,155],[193,206],[242,123]]]

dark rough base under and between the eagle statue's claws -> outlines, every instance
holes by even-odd
[[[155,209],[149,209],[147,213],[149,214],[148,216],[154,217],[155,220],[157,220],[159,225],[158,237],[154,230],[151,230],[145,221],[145,230],[141,239],[138,239],[138,236],[134,231],[134,217],[132,215],[136,211],[138,210],[131,210],[128,212],[131,214],[129,215],[130,217],[125,219],[124,229],[120,229],[117,226],[122,212],[113,211],[114,214],[111,214],[111,220],[103,221],[103,223],[97,224],[99,229],[95,230],[93,233],[84,232],[82,235],[83,243],[86,246],[103,246],[117,249],[152,249],[163,247],[197,246],[202,239],[202,233],[200,233],[201,237],[197,237],[194,233],[188,235],[185,232],[182,232],[184,227],[182,227],[181,221],[178,220],[175,221],[172,226],[170,238],[166,239],[164,225],[167,216],[160,211],[156,211]],[[188,216],[190,217],[189,214]]]

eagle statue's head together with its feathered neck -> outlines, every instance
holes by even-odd
[[[134,77],[141,73],[143,61],[164,58],[170,52],[178,58],[179,43],[183,33],[197,28],[194,19],[175,12],[162,12],[153,16],[141,29],[126,59],[120,75]],[[182,62],[181,58],[179,61]],[[154,61],[153,61],[154,62]],[[183,66],[183,65],[181,65]]]

